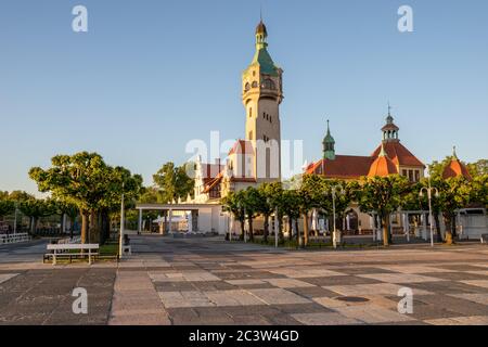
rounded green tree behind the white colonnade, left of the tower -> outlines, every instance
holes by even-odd
[[[193,194],[194,180],[189,177],[188,166],[175,166],[168,162],[153,175],[154,184],[159,188],[158,202],[163,204],[185,200],[188,194]]]

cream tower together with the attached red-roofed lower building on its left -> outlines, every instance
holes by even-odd
[[[262,22],[255,31],[255,54],[242,73],[245,136],[230,149],[226,164],[197,162],[195,200],[219,200],[231,191],[281,179],[281,118],[283,70],[268,52],[268,29]]]

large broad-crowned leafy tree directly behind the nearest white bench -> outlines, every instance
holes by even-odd
[[[103,243],[110,235],[111,215],[119,211],[121,194],[130,207],[143,191],[141,176],[107,165],[97,153],[56,155],[51,163],[48,169],[31,168],[29,177],[59,206],[81,216],[82,243]]]

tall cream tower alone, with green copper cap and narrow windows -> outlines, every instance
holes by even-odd
[[[282,74],[268,53],[268,30],[256,27],[256,53],[242,74],[242,102],[246,110],[246,140],[255,149],[254,176],[258,183],[281,179],[280,104]]]

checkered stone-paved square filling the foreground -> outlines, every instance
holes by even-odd
[[[220,237],[131,236],[119,264],[40,264],[44,242],[2,246],[0,324],[488,324],[488,249],[293,252]],[[87,290],[88,314],[73,312]],[[399,290],[413,292],[400,314]]]

